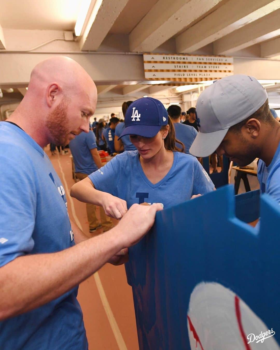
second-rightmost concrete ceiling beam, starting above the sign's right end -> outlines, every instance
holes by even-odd
[[[214,42],[215,55],[228,55],[280,35],[280,9]]]

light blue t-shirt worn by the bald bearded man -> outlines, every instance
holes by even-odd
[[[5,121],[0,122],[0,164],[0,266],[22,255],[75,245],[65,191],[48,156],[29,135]],[[1,321],[0,349],[87,349],[77,292],[73,288]]]

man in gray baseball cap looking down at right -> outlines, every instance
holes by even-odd
[[[205,157],[216,150],[239,166],[259,158],[260,193],[280,203],[280,124],[258,80],[246,75],[218,80],[202,92],[196,113],[200,132],[190,153]]]

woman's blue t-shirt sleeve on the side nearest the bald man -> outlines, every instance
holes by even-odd
[[[120,162],[117,155],[104,167],[90,174],[89,178],[97,190],[118,196],[117,184],[119,182],[119,174]]]

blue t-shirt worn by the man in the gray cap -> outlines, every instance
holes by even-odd
[[[280,204],[280,144],[268,167],[261,159],[258,165],[260,194],[271,195]]]

